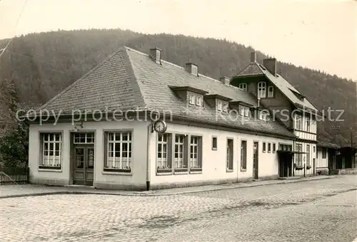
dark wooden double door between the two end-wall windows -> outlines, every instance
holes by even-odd
[[[73,184],[93,186],[94,147],[74,148]]]

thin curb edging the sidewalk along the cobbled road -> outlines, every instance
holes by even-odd
[[[155,194],[154,190],[153,193],[151,194],[140,194],[140,193],[110,193],[110,192],[101,192],[101,191],[46,191],[46,192],[39,192],[39,193],[33,193],[33,194],[15,194],[15,195],[9,195],[9,196],[0,196],[0,199],[9,199],[9,198],[18,198],[18,197],[28,197],[28,196],[47,196],[47,195],[61,195],[61,194],[98,194],[98,195],[112,195],[112,196],[174,196],[174,195],[181,195],[181,194],[192,194],[192,193],[200,193],[200,192],[206,192],[206,191],[220,191],[220,190],[228,190],[228,189],[242,189],[242,188],[248,188],[248,187],[254,187],[254,186],[271,186],[271,185],[276,185],[276,184],[289,184],[289,183],[296,183],[296,182],[303,182],[303,181],[318,181],[318,180],[323,180],[323,179],[333,179],[336,177],[323,177],[320,179],[296,179],[296,180],[288,180],[288,181],[281,181],[277,183],[272,183],[272,184],[250,184],[247,186],[227,186],[227,187],[217,187],[213,189],[206,189],[206,190],[201,190],[201,191],[176,191],[168,194]]]

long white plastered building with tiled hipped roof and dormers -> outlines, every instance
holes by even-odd
[[[31,182],[148,190],[313,174],[316,108],[271,62],[253,65],[263,75],[215,80],[158,48],[119,49],[31,116]],[[301,121],[275,118],[281,107]]]

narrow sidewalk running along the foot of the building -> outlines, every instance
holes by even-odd
[[[306,177],[300,179],[286,180],[266,180],[266,181],[248,181],[235,184],[219,184],[208,186],[191,186],[174,189],[161,189],[152,191],[119,191],[95,189],[91,186],[43,186],[43,185],[1,185],[0,199],[22,196],[44,196],[50,194],[106,194],[120,196],[172,196],[178,194],[188,194],[202,191],[217,191],[224,189],[239,189],[252,186],[267,186],[273,184],[287,184],[301,181],[316,181],[321,179],[332,179],[333,176]]]

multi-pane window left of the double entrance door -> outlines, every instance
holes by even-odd
[[[40,169],[61,169],[62,137],[61,133],[42,133],[42,157]]]

